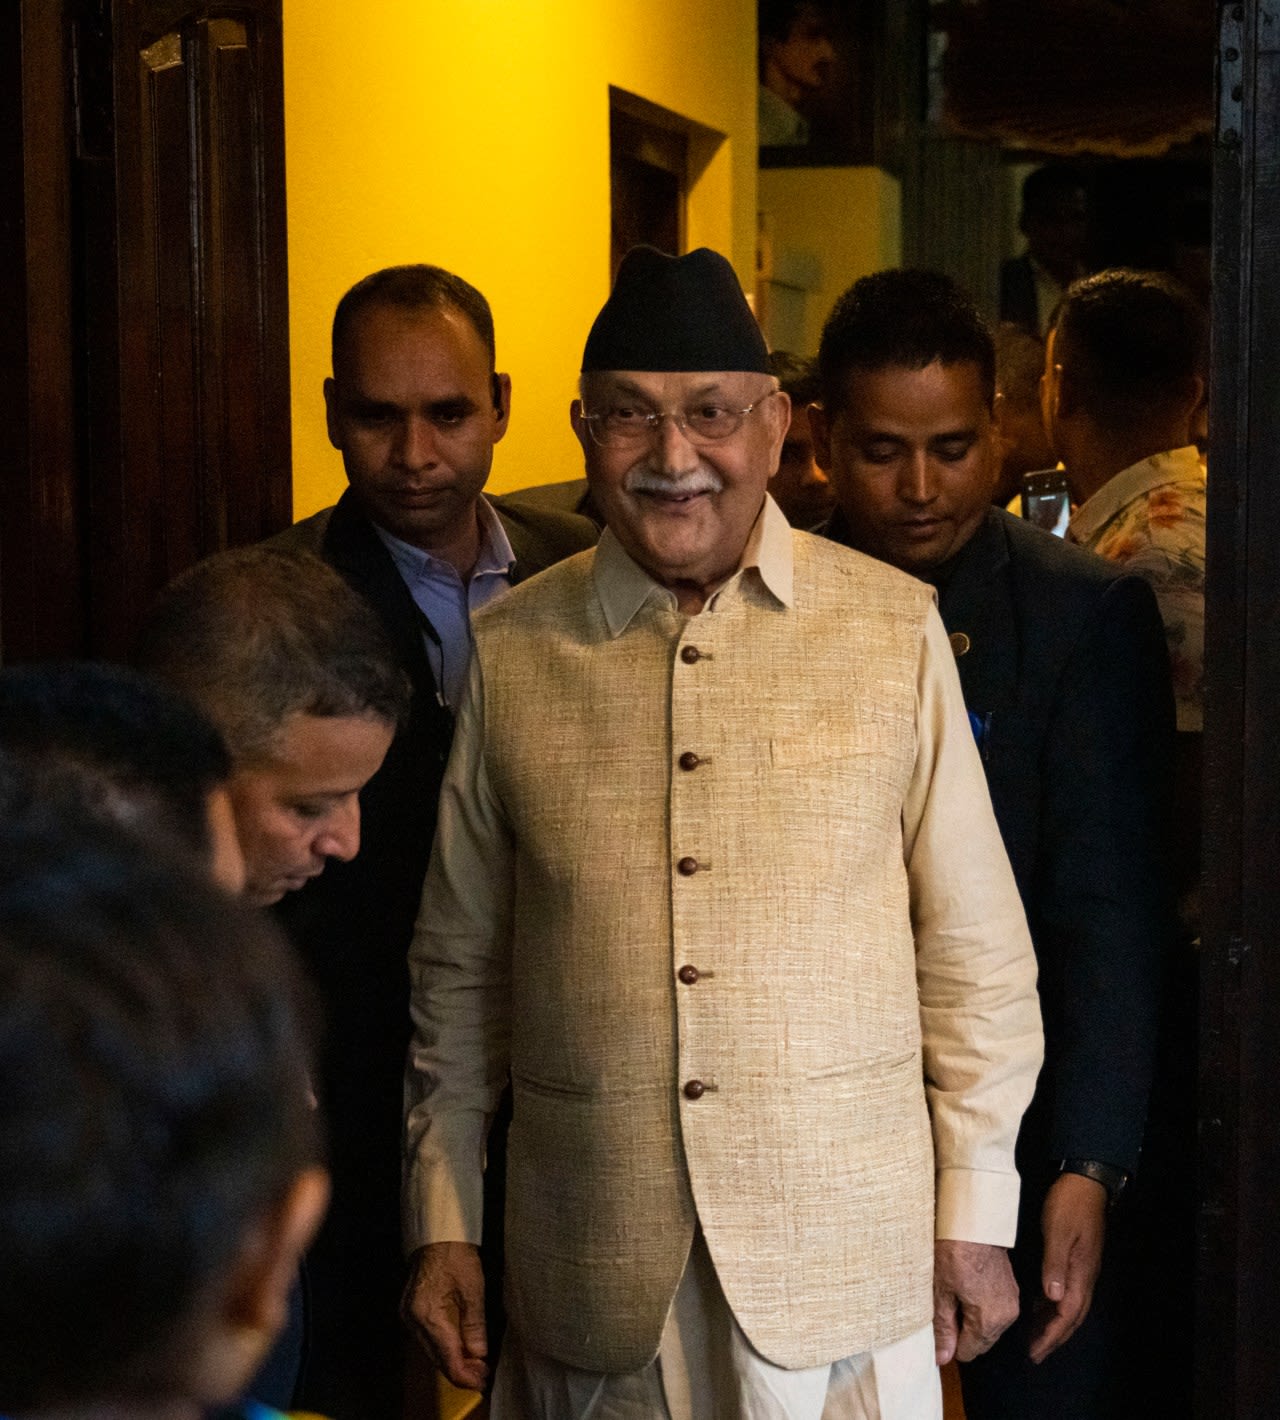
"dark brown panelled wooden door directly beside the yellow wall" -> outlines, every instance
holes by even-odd
[[[278,4],[116,14],[119,381],[98,390],[121,443],[94,469],[90,581],[119,650],[183,567],[288,524],[290,476]]]

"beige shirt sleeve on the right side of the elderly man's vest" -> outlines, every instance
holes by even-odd
[[[1013,1146],[1044,1055],[1036,956],[955,657],[929,609],[916,689],[916,765],[902,811],[936,1235],[1009,1245]]]

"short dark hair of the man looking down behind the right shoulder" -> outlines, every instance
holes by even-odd
[[[818,346],[823,402],[835,413],[851,371],[923,369],[973,362],[996,398],[996,346],[969,295],[938,271],[877,271],[835,302]]]

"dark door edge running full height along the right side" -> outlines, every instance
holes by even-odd
[[[1280,1414],[1280,0],[1219,6],[1196,1413]]]

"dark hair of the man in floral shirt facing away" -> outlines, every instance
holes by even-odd
[[[1064,389],[1102,429],[1166,409],[1205,371],[1205,312],[1161,271],[1115,267],[1075,281],[1054,331]]]

